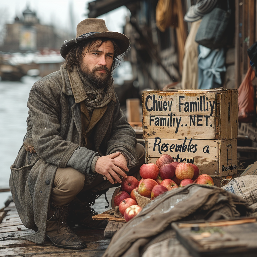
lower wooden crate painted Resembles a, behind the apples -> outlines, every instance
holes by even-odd
[[[237,173],[237,140],[155,139],[145,140],[146,163],[156,163],[162,154],[174,161],[191,162],[200,174],[228,176]]]

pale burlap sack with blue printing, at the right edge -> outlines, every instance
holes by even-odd
[[[250,205],[250,207],[257,208],[257,176],[246,175],[232,179],[227,185],[221,187],[222,189],[241,196]]]

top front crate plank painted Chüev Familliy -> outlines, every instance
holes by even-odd
[[[203,90],[144,91],[143,115],[215,116],[217,92],[221,90],[213,90],[212,93]]]

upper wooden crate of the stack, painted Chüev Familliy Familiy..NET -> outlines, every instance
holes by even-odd
[[[149,90],[142,96],[143,137],[235,139],[237,90]]]

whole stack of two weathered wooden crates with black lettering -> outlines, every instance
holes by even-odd
[[[169,154],[200,174],[237,173],[237,90],[149,90],[142,108],[147,163]]]

